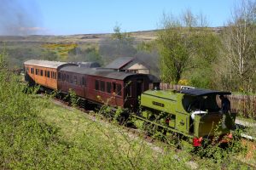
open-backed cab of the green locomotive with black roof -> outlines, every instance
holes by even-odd
[[[182,91],[183,108],[190,114],[189,132],[196,137],[213,136],[230,133],[235,125],[236,114],[221,110],[220,95],[229,92],[218,92],[207,89],[185,89]]]

